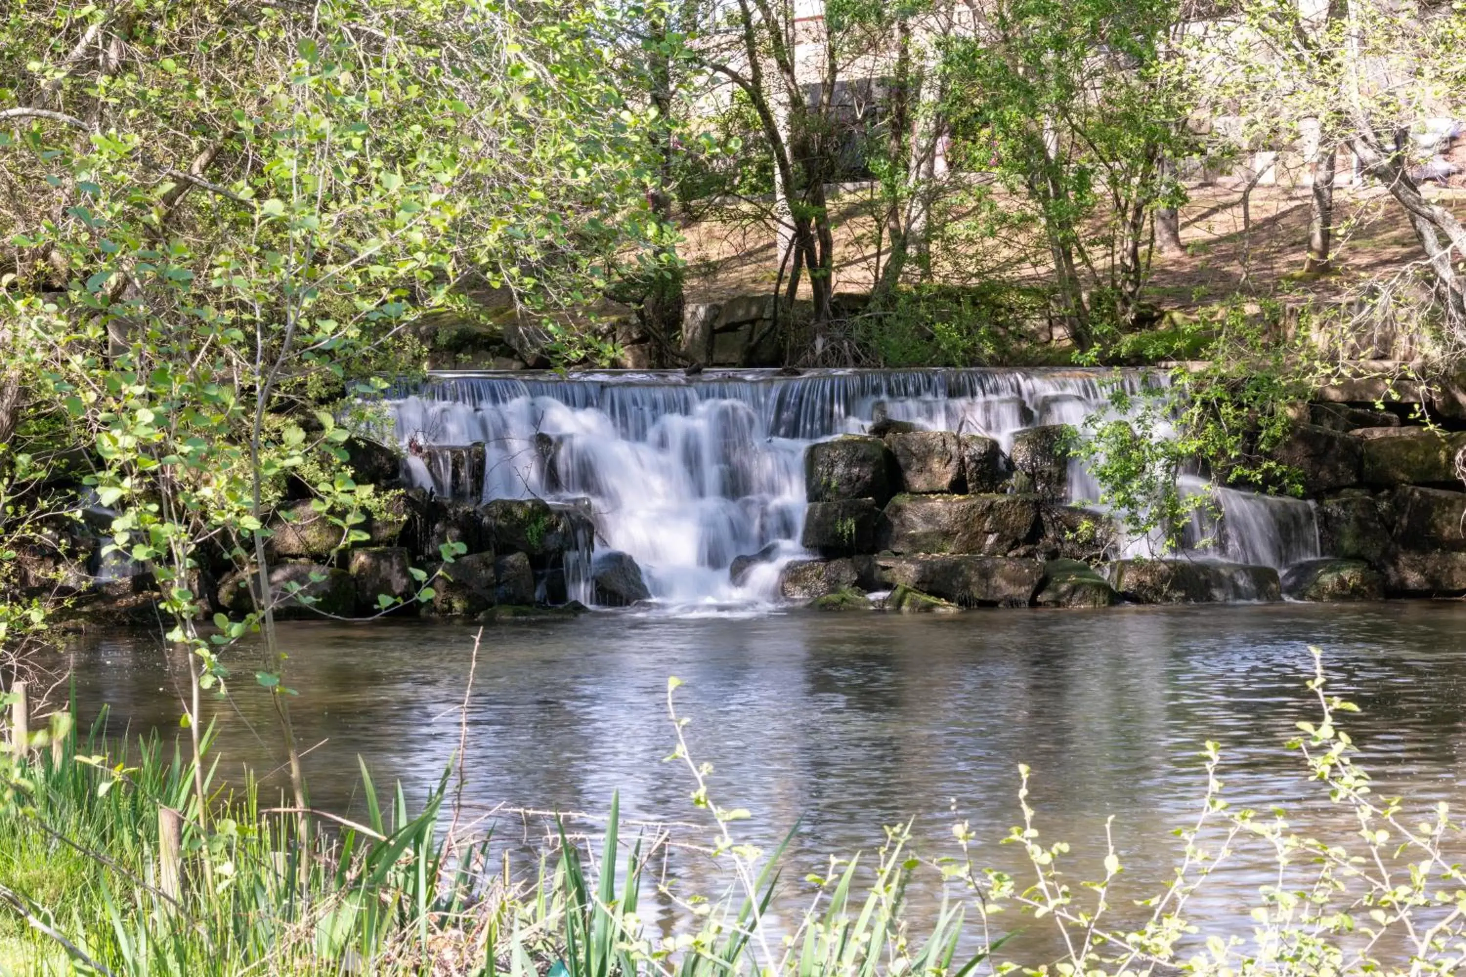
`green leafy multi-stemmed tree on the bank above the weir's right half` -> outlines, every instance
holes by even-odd
[[[1148,217],[1182,192],[1193,105],[1176,0],[1020,0],[951,38],[947,111],[1010,193],[1035,209],[1072,338],[1130,324],[1149,265]],[[1104,215],[1102,229],[1091,230]]]

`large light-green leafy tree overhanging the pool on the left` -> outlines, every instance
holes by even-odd
[[[271,583],[271,507],[293,479],[343,545],[362,539],[371,492],[345,466],[342,419],[408,365],[408,327],[466,311],[460,284],[479,277],[578,302],[644,243],[647,119],[607,54],[582,13],[525,22],[468,0],[129,0],[0,21],[0,322],[31,352],[0,376],[0,394],[29,384],[4,441],[82,445],[69,473],[194,652],[195,737],[217,649],[264,633],[257,680],[298,807],[273,611],[311,596]],[[205,636],[216,560],[252,577],[255,611]]]

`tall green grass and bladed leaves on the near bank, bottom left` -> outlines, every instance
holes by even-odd
[[[622,844],[614,803],[598,852],[561,828],[535,877],[512,883],[490,869],[487,838],[446,841],[447,775],[409,810],[400,788],[384,807],[364,766],[365,823],[315,826],[305,847],[295,814],[262,807],[254,782],[216,790],[211,769],[204,826],[194,775],[157,737],[107,743],[95,728],[67,734],[54,759],[43,748],[12,768],[13,803],[0,813],[0,973],[859,977],[888,973],[897,956],[899,970],[924,961],[951,976],[968,970],[953,968],[956,910],[896,949],[915,864],[900,842],[883,852],[863,899],[852,892],[850,861],[796,945],[771,946],[762,935],[776,852],[756,879],[692,913],[699,929],[673,954],[636,915],[657,882],[644,872],[642,841]],[[160,807],[185,820],[176,902],[160,889]]]

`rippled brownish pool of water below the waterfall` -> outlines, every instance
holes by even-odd
[[[789,877],[821,869],[828,854],[871,851],[884,825],[906,820],[921,854],[953,854],[957,816],[981,839],[979,860],[1017,869],[1016,850],[997,841],[1017,823],[1016,768],[1028,763],[1044,838],[1073,842],[1085,852],[1076,872],[1095,870],[1113,816],[1139,895],[1167,877],[1179,844],[1170,832],[1195,819],[1205,740],[1223,746],[1234,804],[1297,806],[1311,829],[1347,835],[1349,817],[1316,801],[1316,785],[1283,748],[1293,724],[1315,715],[1303,688],[1309,644],[1324,647],[1336,691],[1363,707],[1347,725],[1375,778],[1412,804],[1463,800],[1460,603],[592,614],[487,627],[465,716],[475,631],[283,628],[298,734],[314,747],[315,806],[362,810],[356,757],[378,785],[400,781],[422,797],[466,719],[465,795],[501,836],[542,832],[509,807],[597,813],[617,790],[627,817],[696,820],[686,770],[663,762],[674,743],[667,678],[677,675],[692,751],[714,765],[718,803],[754,811],[740,829],[756,842],[795,829]],[[72,656],[84,712],[108,705],[119,732],[177,729],[186,671],[155,639],[88,637]],[[254,662],[245,652],[226,661],[230,697],[214,703],[221,772],[276,769]],[[682,860],[673,872],[698,874],[693,855],[673,858]],[[1221,914],[1255,894],[1268,866],[1249,858],[1201,911]],[[937,888],[918,888],[927,911]]]

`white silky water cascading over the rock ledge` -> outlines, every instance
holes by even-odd
[[[482,442],[485,499],[588,505],[595,546],[635,557],[652,596],[689,611],[774,599],[780,567],[802,554],[809,444],[884,415],[1007,450],[1023,428],[1078,426],[1116,385],[1145,382],[1138,371],[1020,369],[444,375],[388,407],[405,445]],[[446,469],[409,457],[409,476],[449,494]],[[1097,498],[1078,461],[1069,482],[1072,501]],[[1226,530],[1209,533],[1209,554],[1278,568],[1318,555],[1308,504],[1231,489],[1220,502]],[[734,586],[729,564],[770,543],[776,560]]]

